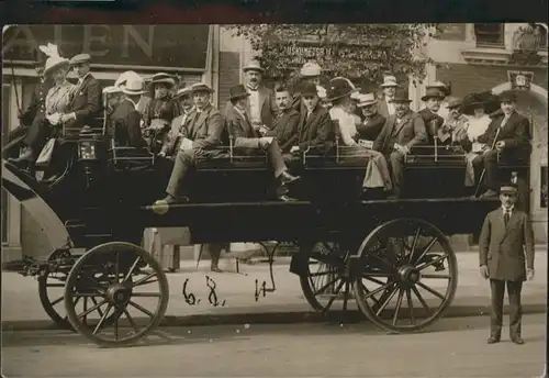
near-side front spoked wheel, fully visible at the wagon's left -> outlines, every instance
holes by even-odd
[[[93,298],[97,304],[77,312],[78,297]],[[164,319],[168,298],[168,278],[156,259],[134,244],[112,242],[77,260],[67,280],[65,309],[80,334],[100,346],[116,347],[153,332]],[[97,324],[89,324],[87,315],[98,309],[103,315]],[[105,324],[113,312],[121,315],[112,325]]]

